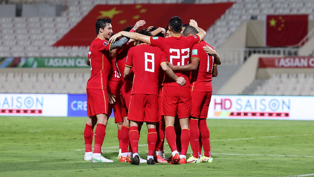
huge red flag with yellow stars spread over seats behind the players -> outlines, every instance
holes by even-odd
[[[194,19],[206,31],[233,3],[96,5],[53,46],[89,46],[96,37],[95,23],[99,18],[110,18],[114,33],[138,20],[146,21],[145,28],[165,28],[173,16],[181,17],[183,24]]]

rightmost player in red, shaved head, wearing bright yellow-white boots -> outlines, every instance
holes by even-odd
[[[197,32],[197,29],[193,26],[186,26],[183,31],[183,36],[192,36]],[[213,162],[210,153],[209,130],[206,118],[213,92],[211,81],[214,61],[220,65],[221,60],[217,52],[212,48],[212,50],[208,50],[208,52],[211,52],[210,55],[208,55],[203,49],[204,46],[206,48],[209,47],[204,40],[193,46],[190,64],[185,66],[174,66],[169,63],[169,67],[174,71],[194,70],[191,77],[191,95],[193,104],[189,124],[191,132],[190,143],[193,154],[187,159],[187,163],[199,163],[201,161]],[[204,156],[201,158],[199,154],[200,134],[205,151]]]

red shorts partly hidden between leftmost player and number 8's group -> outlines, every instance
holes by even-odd
[[[117,82],[117,81],[108,81],[108,89],[110,90],[111,94],[115,95],[115,100],[113,104],[109,104],[108,106],[108,115],[111,115],[112,108],[113,108],[113,113],[115,116],[115,123],[118,122],[123,122],[123,117],[122,117],[122,103],[121,103],[121,98],[120,98],[120,89],[121,89],[121,84],[122,82]]]

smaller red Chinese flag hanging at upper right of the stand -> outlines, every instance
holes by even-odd
[[[266,45],[273,47],[298,44],[308,31],[308,15],[267,15]]]

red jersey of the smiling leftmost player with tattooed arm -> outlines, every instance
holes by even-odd
[[[107,90],[108,75],[111,69],[110,45],[111,42],[98,37],[90,44],[88,58],[91,75],[86,89]]]

